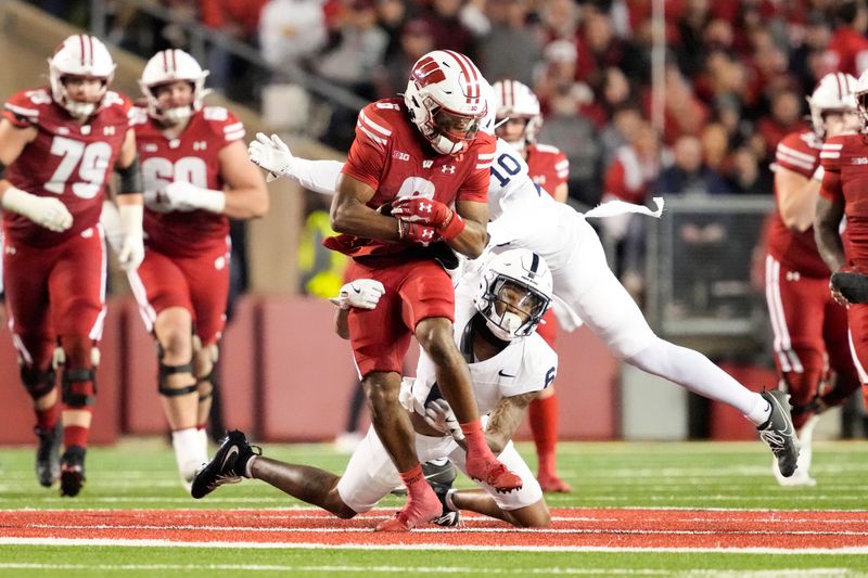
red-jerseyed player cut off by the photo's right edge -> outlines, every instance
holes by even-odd
[[[856,82],[856,104],[861,130],[826,139],[820,151],[825,170],[814,217],[814,233],[820,256],[831,271],[868,272],[868,73]],[[846,230],[841,233],[841,220]],[[830,287],[831,288],[831,287]],[[832,297],[846,306],[853,362],[868,398],[868,305],[850,304],[835,288]]]

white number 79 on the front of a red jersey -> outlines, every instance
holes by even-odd
[[[111,144],[103,141],[84,143],[66,137],[54,137],[50,152],[52,156],[60,157],[60,163],[44,183],[46,191],[63,194],[66,184],[73,180],[71,189],[77,197],[93,198],[99,194],[112,159]]]

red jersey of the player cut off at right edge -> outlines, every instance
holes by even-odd
[[[844,253],[852,265],[868,266],[868,144],[865,134],[831,137],[822,145],[826,169],[820,194],[843,201],[847,219]]]

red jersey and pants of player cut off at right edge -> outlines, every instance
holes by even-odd
[[[826,176],[820,194],[832,202],[844,203],[847,265],[868,269],[868,145],[864,134],[842,134],[826,141],[820,153]],[[851,305],[850,322],[854,362],[861,383],[868,383],[868,305]]]

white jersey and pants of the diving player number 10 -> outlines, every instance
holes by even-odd
[[[341,167],[332,160],[295,158],[291,176],[312,191],[334,194]],[[492,164],[488,210],[489,251],[524,247],[546,259],[554,310],[565,331],[584,322],[621,358],[650,345],[654,334],[609,269],[597,232],[584,215],[537,188],[527,164],[502,139],[497,140]],[[478,268],[473,262],[465,266],[470,271]]]

